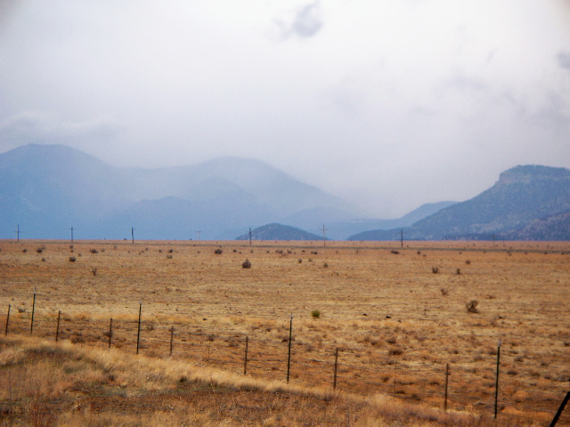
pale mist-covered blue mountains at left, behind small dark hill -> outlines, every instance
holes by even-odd
[[[334,238],[371,230],[354,206],[258,160],[219,157],[159,169],[117,167],[62,145],[0,155],[0,238],[233,239],[270,222],[327,228]],[[404,220],[405,222],[405,220]],[[329,225],[330,224],[330,225]],[[410,225],[408,221],[405,225]],[[334,230],[334,231],[332,231]]]

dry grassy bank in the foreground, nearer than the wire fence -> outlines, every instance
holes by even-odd
[[[514,425],[70,342],[8,336],[0,349],[2,425]]]

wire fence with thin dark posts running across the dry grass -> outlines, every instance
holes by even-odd
[[[100,348],[117,348],[157,358],[190,361],[202,367],[217,367],[266,380],[283,381],[288,367],[289,334],[256,336],[236,332],[220,333],[204,325],[159,323],[156,318],[122,316],[90,318],[82,314],[59,313],[38,315],[34,303],[31,312],[9,308],[5,315],[5,334],[31,334],[53,340],[88,343]],[[246,339],[248,352],[246,359]],[[339,348],[338,359],[335,351]],[[346,345],[327,347],[304,341],[293,334],[290,352],[291,383],[325,386],[361,395],[384,393],[401,399],[424,402],[447,410],[476,411],[493,414],[497,391],[496,356],[485,367],[464,364],[434,363],[421,358],[401,360],[399,355],[379,352],[364,354]],[[247,363],[246,363],[247,360]],[[335,367],[336,362],[336,367]],[[336,378],[335,373],[336,371]],[[537,372],[537,378],[548,378],[548,370]],[[501,372],[499,383],[499,416],[519,417],[525,421],[545,422],[556,413],[568,383],[558,382],[556,390],[538,380],[528,389],[512,372]],[[445,384],[447,383],[447,387]],[[539,384],[540,383],[540,384]],[[554,383],[557,384],[557,383]],[[447,389],[447,391],[445,391]],[[570,426],[566,410],[557,425]]]

